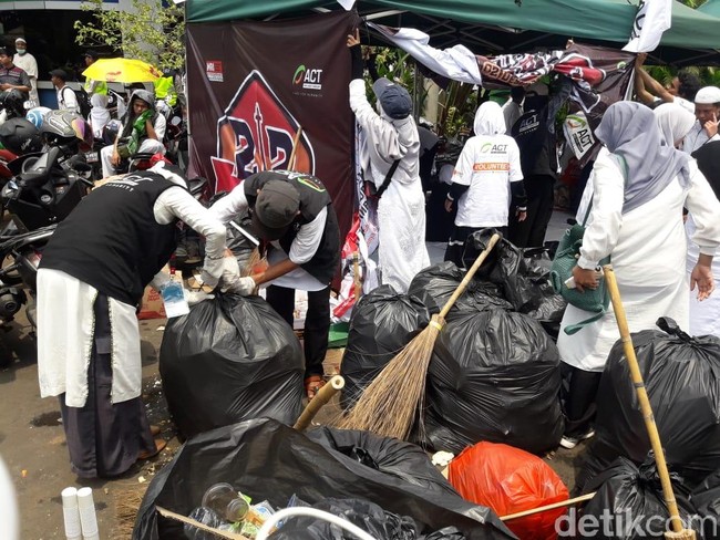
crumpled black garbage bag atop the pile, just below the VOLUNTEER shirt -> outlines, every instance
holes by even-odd
[[[466,266],[485,249],[491,232],[484,229],[467,238],[463,253]],[[544,328],[559,328],[567,302],[553,291],[551,264],[547,249],[523,249],[502,239],[492,259],[483,264],[481,277],[495,283],[515,311],[531,315],[544,323]]]

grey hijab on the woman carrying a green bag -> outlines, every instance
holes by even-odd
[[[678,175],[682,185],[689,181],[688,155],[664,143],[658,122],[645,105],[627,101],[614,103],[605,112],[595,135],[623,162],[623,212],[652,200]]]

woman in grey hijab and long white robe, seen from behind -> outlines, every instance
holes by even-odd
[[[689,291],[703,300],[713,290],[712,256],[720,246],[720,202],[687,154],[665,143],[658,121],[645,105],[619,102],[608,107],[597,138],[598,154],[578,220],[592,201],[583,247],[573,277],[578,290],[597,287],[595,269],[610,256],[630,332],[655,328],[659,316],[689,323]],[[676,139],[676,135],[672,135]],[[685,272],[687,240],[682,208],[695,216],[692,240],[700,257]],[[599,378],[608,353],[618,339],[613,310],[598,321],[567,335],[565,326],[590,316],[568,305],[557,346],[568,372],[565,397],[566,427],[560,445],[573,448],[594,432],[590,419]]]

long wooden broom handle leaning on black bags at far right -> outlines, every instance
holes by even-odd
[[[617,287],[617,280],[615,279],[613,266],[606,264],[603,267],[603,270],[605,272],[605,282],[607,283],[607,288],[610,293],[610,300],[613,301],[613,310],[615,311],[617,326],[620,331],[623,350],[625,352],[625,357],[628,361],[630,376],[632,377],[632,384],[635,385],[638,403],[640,404],[640,412],[642,413],[645,427],[648,430],[650,445],[652,446],[652,453],[655,454],[655,463],[658,467],[660,484],[662,485],[665,505],[668,507],[668,512],[670,513],[672,531],[666,531],[665,538],[668,540],[695,540],[695,531],[691,529],[685,529],[682,520],[680,519],[678,503],[675,500],[672,484],[670,482],[670,475],[668,472],[668,464],[665,461],[665,453],[662,451],[662,444],[660,443],[660,434],[658,433],[658,426],[655,423],[655,416],[652,416],[652,406],[650,405],[650,398],[648,397],[647,390],[645,388],[645,382],[642,381],[642,373],[640,372],[640,366],[638,365],[638,359],[635,355],[632,338],[630,338],[630,330],[627,324],[625,308],[623,307],[623,301],[620,300],[620,290]]]

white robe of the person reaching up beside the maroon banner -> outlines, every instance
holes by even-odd
[[[430,264],[425,248],[425,197],[420,181],[420,137],[412,117],[378,115],[366,96],[364,81],[350,82],[350,108],[364,132],[361,163],[367,180],[384,181],[400,164],[378,204],[379,260],[382,283],[405,292],[415,274]]]

